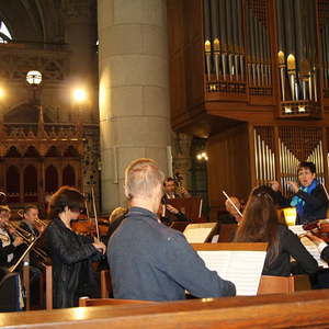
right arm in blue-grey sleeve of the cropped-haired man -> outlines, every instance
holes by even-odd
[[[223,280],[215,271],[208,270],[181,235],[168,239],[164,271],[195,297],[236,295],[235,284]]]

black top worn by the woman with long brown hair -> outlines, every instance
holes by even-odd
[[[291,268],[291,257],[293,257],[297,266],[295,270],[297,273],[304,272],[307,274],[313,274],[318,270],[317,261],[310,256],[306,248],[302,245],[298,237],[293,234],[285,225],[279,225],[279,253],[274,261],[271,261],[271,250],[268,252],[263,275],[274,275],[274,276],[288,276],[292,273]],[[302,270],[302,271],[300,271]],[[294,272],[293,271],[293,272]]]

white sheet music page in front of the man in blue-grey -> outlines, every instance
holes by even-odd
[[[216,250],[197,253],[209,270],[235,283],[237,295],[257,295],[266,251]]]

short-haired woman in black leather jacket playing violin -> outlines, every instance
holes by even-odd
[[[98,282],[91,262],[105,252],[105,245],[71,230],[70,222],[84,209],[83,195],[76,189],[61,186],[50,200],[46,229],[47,250],[53,260],[54,307],[78,305],[81,296],[98,296]]]

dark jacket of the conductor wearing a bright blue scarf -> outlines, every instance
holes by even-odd
[[[328,198],[321,184],[318,184],[311,193],[298,191],[295,195],[305,201],[303,217],[297,217],[297,225],[327,218]],[[276,202],[282,207],[290,207],[292,198],[285,198],[281,192],[276,192]]]

